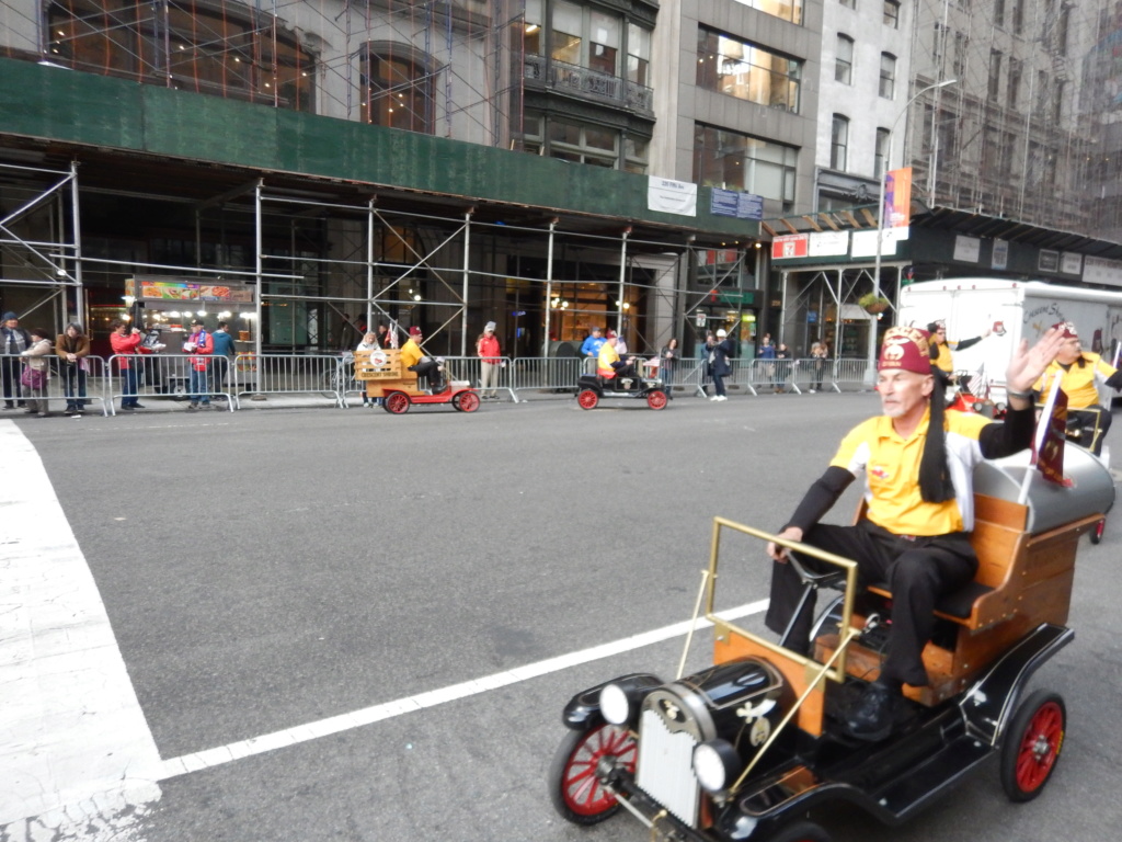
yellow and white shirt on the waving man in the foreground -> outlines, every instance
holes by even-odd
[[[919,488],[919,465],[927,441],[930,413],[923,414],[907,439],[888,415],[871,418],[842,440],[831,467],[855,477],[865,476],[866,516],[879,527],[903,536],[941,536],[974,528],[974,466],[983,461],[978,436],[991,423],[987,418],[947,412],[947,465],[955,497],[944,503],[926,502]]]

